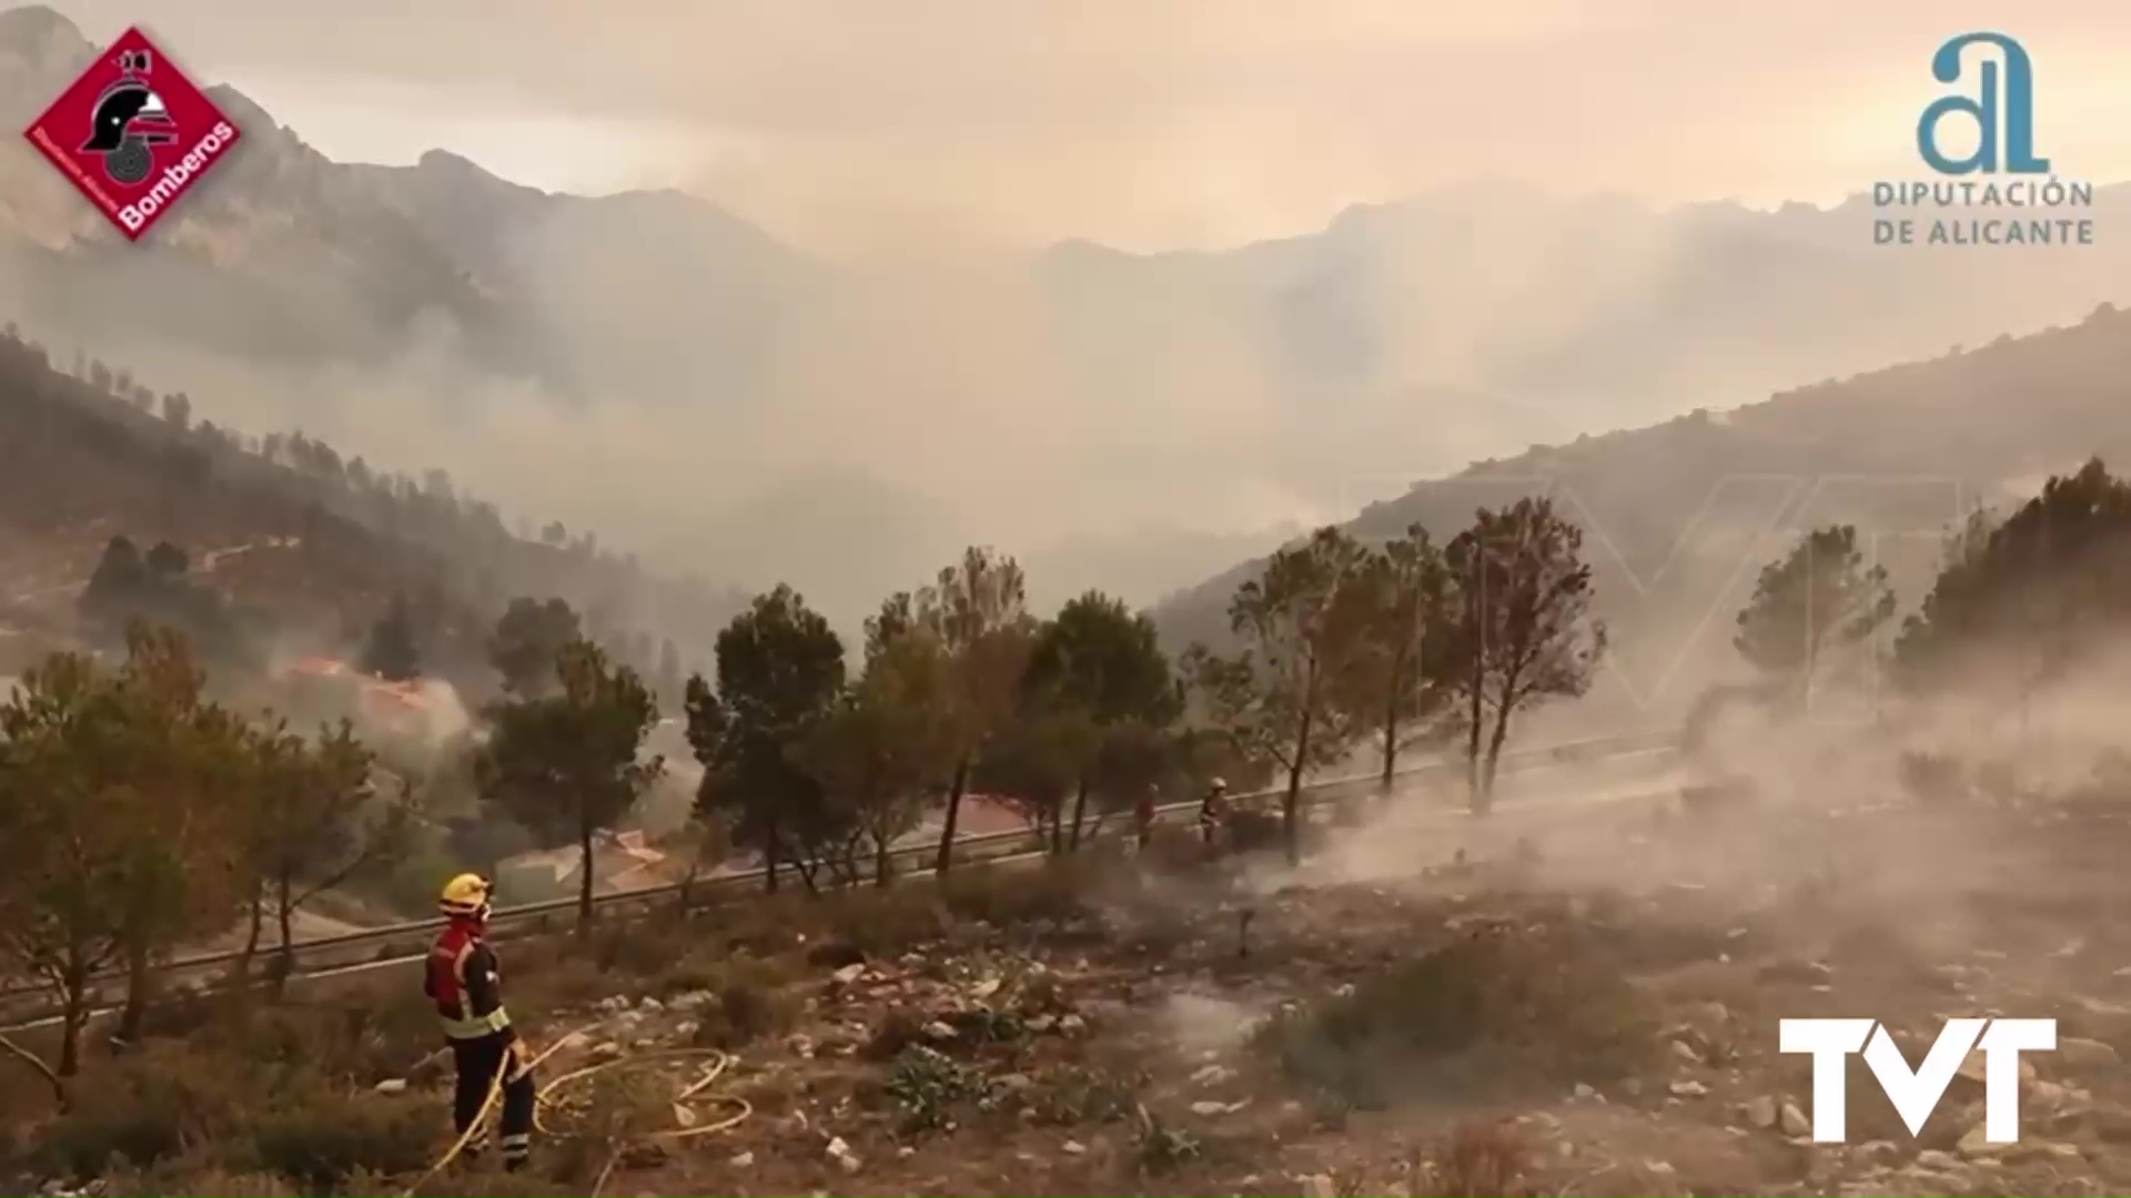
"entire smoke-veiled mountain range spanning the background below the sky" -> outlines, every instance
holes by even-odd
[[[49,9],[0,13],[0,117],[32,119],[92,55]],[[978,541],[1012,527],[999,548],[1149,601],[1204,561],[1119,529],[1276,529],[1524,446],[2131,298],[2127,188],[2101,192],[2095,245],[2005,252],[1877,247],[1862,198],[1660,211],[1475,183],[1225,252],[1063,243],[987,266],[1029,307],[999,311],[991,292],[953,294],[950,273],[820,262],[678,192],[543,194],[441,151],[337,164],[239,92],[211,94],[245,141],[139,245],[0,139],[0,318],[211,401],[254,373],[277,422],[347,446],[409,422],[381,414],[381,394],[469,424],[629,411],[631,435],[699,448],[699,477],[654,477],[633,450],[586,441],[599,433],[494,433],[522,482],[484,490],[546,505],[552,480],[614,477],[635,492],[614,509],[641,527],[575,522],[748,586],[797,561],[842,608],[940,565],[916,512]],[[927,320],[906,328],[912,311]],[[912,433],[957,422],[953,450]],[[473,428],[450,465],[488,443]],[[1006,482],[972,482],[987,456],[1012,460],[993,471]],[[1008,484],[1040,497],[1012,524]],[[761,520],[808,503],[793,539],[765,546]]]

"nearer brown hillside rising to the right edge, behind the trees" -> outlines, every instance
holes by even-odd
[[[2131,313],[2112,305],[1980,350],[1485,460],[1347,527],[1389,537],[1419,522],[1443,541],[1475,507],[1553,497],[1585,529],[1615,629],[1613,697],[1656,718],[1733,665],[1733,616],[1799,533],[1858,524],[1909,605],[1967,512],[2024,499],[2095,454],[2131,460]],[[1227,642],[1227,601],[1262,561],[1164,601],[1164,640]]]

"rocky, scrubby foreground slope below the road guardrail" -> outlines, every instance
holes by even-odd
[[[2131,1181],[2131,932],[2108,919],[2131,833],[2116,816],[1622,816],[1577,842],[1522,838],[1522,855],[1475,842],[1479,865],[1396,880],[1083,863],[526,951],[507,968],[531,1038],[582,1032],[543,1079],[620,1064],[556,1094],[550,1189],[484,1175],[428,1185],[528,1198],[595,1183],[618,1198],[2031,1198]],[[1436,838],[1428,855],[1451,844]],[[1775,1051],[1779,1019],[1816,1015],[1884,1021],[1912,1064],[1956,1015],[2054,1017],[2061,1042],[2027,1055],[2018,1145],[1982,1138],[1980,1055],[1920,1136],[1852,1062],[1852,1145],[1818,1145],[1809,1064]],[[443,1147],[445,1079],[437,1062],[409,1068],[420,1013],[394,1025],[405,1032],[330,1066],[364,1111],[335,1119],[405,1123],[405,1143],[256,1145],[211,1166],[215,1194],[281,1198],[230,1179],[292,1172],[332,1194],[403,1192]],[[716,1064],[707,1049],[733,1064],[678,1100]],[[658,1057],[676,1051],[695,1055]],[[739,1113],[733,1100],[746,1117],[710,1130]],[[38,1134],[72,1145],[83,1119]],[[156,1155],[134,1140],[139,1126],[119,1155]],[[332,1153],[398,1177],[288,1160]],[[209,1168],[198,1155],[181,1138],[162,1153]],[[49,1153],[43,1168],[51,1177]],[[115,1198],[139,1185],[109,1177]],[[192,1194],[160,1185],[136,1192]]]

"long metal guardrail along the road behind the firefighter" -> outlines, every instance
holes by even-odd
[[[1509,750],[1500,759],[1500,772],[1504,772],[1504,774],[1522,774],[1522,772],[1528,772],[1528,770],[1545,770],[1549,765],[1566,765],[1566,763],[1577,763],[1577,761],[1632,757],[1632,755],[1639,755],[1639,752],[1662,752],[1662,750],[1671,750],[1671,748],[1677,748],[1677,746],[1679,746],[1679,729],[1654,729],[1654,731],[1626,733],[1626,735],[1573,740],[1573,742],[1549,744],[1549,746],[1539,746],[1539,748]],[[1430,761],[1424,761],[1424,763],[1417,763],[1417,765],[1409,765],[1404,770],[1396,770],[1392,774],[1392,778],[1394,780],[1415,780],[1415,778],[1428,778],[1428,776],[1460,774],[1464,770],[1466,770],[1466,759],[1464,757],[1436,757],[1436,759],[1430,759]],[[1325,793],[1328,791],[1351,789],[1351,791],[1368,793],[1370,789],[1379,787],[1381,782],[1383,782],[1381,774],[1357,774],[1357,776],[1345,776],[1345,778],[1311,780],[1311,782],[1302,784],[1302,791],[1313,797],[1311,806],[1317,806],[1317,804],[1325,802]],[[1251,793],[1242,793],[1242,795],[1232,795],[1232,802],[1234,804],[1251,804],[1251,802],[1276,799],[1276,797],[1283,797],[1285,793],[1287,793],[1285,787],[1274,787],[1274,789],[1266,789],[1266,791],[1251,791]],[[1189,814],[1189,812],[1195,812],[1195,810],[1198,810],[1198,799],[1187,799],[1187,802],[1178,802],[1178,804],[1164,804],[1161,808],[1155,810],[1155,816],[1157,819],[1174,819],[1174,816]],[[993,831],[993,833],[980,833],[980,836],[963,836],[963,838],[955,840],[955,848],[953,851],[959,855],[959,853],[967,853],[967,851],[999,848],[999,851],[1004,851],[999,855],[1019,855],[1023,851],[1040,846],[1040,838],[1042,838],[1042,833],[1036,831],[1036,829],[1014,829],[1014,831]],[[923,859],[936,857],[938,851],[940,851],[938,844],[912,844],[912,846],[891,848],[889,857],[893,857],[897,861],[908,861],[908,859],[921,859],[923,861]],[[982,865],[987,861],[985,859],[972,859],[972,861],[959,861],[959,863]],[[786,872],[791,872],[788,865],[786,865]],[[908,874],[929,874],[931,870],[923,868],[923,870],[906,870],[906,872]],[[690,883],[667,883],[667,885],[658,885],[658,887],[639,887],[639,889],[633,889],[633,891],[609,891],[609,893],[603,893],[603,895],[592,895],[592,908],[601,910],[601,908],[612,908],[612,906],[627,906],[627,904],[652,902],[652,900],[661,900],[661,897],[678,897],[682,893],[682,889],[686,889],[690,893],[690,900],[718,902],[716,895],[720,895],[720,893],[742,891],[742,889],[748,889],[748,887],[759,887],[767,878],[767,874],[769,874],[767,870],[739,870],[739,872],[729,872],[729,874],[707,874],[707,876],[695,878]],[[516,925],[522,925],[522,923],[543,923],[548,917],[554,917],[554,914],[565,914],[565,912],[573,914],[578,910],[578,906],[580,906],[580,900],[573,895],[573,897],[563,897],[563,900],[546,900],[546,902],[535,902],[535,904],[520,904],[520,906],[509,906],[509,908],[497,908],[490,914],[490,927],[497,929],[497,932],[505,932],[505,929],[514,929]],[[335,951],[343,951],[343,949],[360,949],[364,944],[379,944],[379,953],[381,953],[384,946],[388,946],[394,940],[426,938],[428,934],[441,929],[443,925],[445,925],[443,919],[420,919],[420,921],[409,921],[409,923],[392,923],[392,925],[384,925],[384,927],[367,927],[362,932],[347,932],[347,934],[341,934],[341,936],[320,936],[320,938],[311,938],[311,940],[296,940],[294,944],[288,944],[288,946],[283,946],[279,942],[277,944],[262,944],[260,949],[256,949],[251,953],[251,957],[256,961],[273,961],[275,957],[281,957],[283,953],[292,953],[296,957],[313,957],[313,955],[320,955],[320,953],[335,953]],[[192,957],[179,957],[175,961],[164,961],[162,966],[158,966],[156,972],[160,976],[190,974],[190,972],[198,972],[198,970],[213,970],[217,966],[234,966],[241,959],[245,959],[245,951],[241,951],[241,949],[228,949],[228,951],[217,951],[217,953],[198,953],[198,955],[192,955]],[[362,961],[345,961],[345,964],[358,966]],[[121,976],[124,974],[119,970],[104,970],[104,972],[98,972],[92,981],[100,981],[102,983],[102,981],[115,981],[115,978],[121,978]],[[9,1002],[9,1000],[15,1000],[15,998],[26,998],[26,995],[34,995],[34,993],[43,993],[43,991],[47,991],[45,985],[19,985],[17,983],[13,987],[0,987],[0,1002]]]

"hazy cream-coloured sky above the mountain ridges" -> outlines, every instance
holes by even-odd
[[[1931,51],[1975,28],[2029,45],[2065,175],[2131,175],[2114,0],[162,0],[151,28],[332,158],[684,183],[814,245],[1234,243],[1473,177],[1828,200],[1918,175]]]

